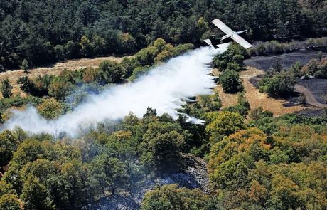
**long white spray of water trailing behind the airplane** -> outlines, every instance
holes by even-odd
[[[213,56],[227,50],[225,44],[218,50],[198,48],[183,56],[172,58],[160,65],[134,83],[116,85],[104,90],[99,95],[92,95],[86,103],[78,105],[75,110],[58,118],[45,120],[38,115],[35,107],[25,111],[14,111],[14,115],[3,125],[1,130],[12,130],[19,126],[33,133],[48,132],[52,135],[66,132],[78,135],[80,128],[95,125],[103,120],[119,120],[133,112],[141,117],[147,107],[155,108],[159,115],[168,113],[177,117],[176,109],[181,107],[187,98],[195,95],[210,94],[215,84],[208,75],[208,63]],[[190,121],[197,119],[190,117]]]

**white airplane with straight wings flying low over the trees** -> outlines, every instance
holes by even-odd
[[[232,29],[230,29],[228,26],[225,25],[225,23],[223,23],[222,21],[220,21],[220,19],[214,19],[213,21],[211,21],[215,26],[217,26],[221,31],[223,31],[224,33],[226,33],[225,36],[223,36],[222,38],[220,38],[219,41],[215,40],[215,36],[212,36],[211,39],[205,39],[205,43],[208,44],[208,46],[213,47],[215,49],[219,48],[221,43],[227,43],[230,42],[230,38],[232,38],[232,40],[236,41],[237,43],[240,44],[240,46],[242,46],[245,49],[251,48],[252,44],[248,43],[244,38],[242,38],[239,34],[246,32],[245,31],[232,31]]]

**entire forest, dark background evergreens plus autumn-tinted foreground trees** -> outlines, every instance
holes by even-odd
[[[129,194],[149,180],[179,172],[186,156],[203,159],[210,191],[162,184],[147,191],[139,209],[327,209],[327,110],[318,117],[274,116],[251,107],[240,71],[250,56],[327,45],[323,0],[0,0],[0,70],[21,68],[25,97],[1,80],[0,123],[28,106],[46,120],[118,84],[133,83],[151,68],[201,45],[220,17],[233,29],[250,28],[250,51],[231,44],[213,58],[215,83],[238,96],[223,107],[220,95],[197,95],[178,117],[155,107],[117,122],[104,120],[82,135],[0,132],[0,209],[87,209],[101,199]],[[272,41],[274,40],[274,41]],[[109,54],[97,68],[28,75],[33,65]],[[327,78],[326,58],[276,62],[259,82],[273,98],[294,92],[296,78]],[[186,122],[192,116],[203,125]]]

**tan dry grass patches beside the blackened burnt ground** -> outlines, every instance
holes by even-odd
[[[275,116],[284,115],[286,113],[299,112],[304,110],[304,106],[296,105],[291,107],[286,107],[288,103],[286,100],[276,100],[274,98],[268,97],[266,93],[259,93],[259,90],[250,83],[250,78],[262,74],[262,70],[257,68],[247,67],[246,70],[240,72],[240,77],[243,80],[243,85],[245,88],[245,97],[250,103],[252,109],[257,107],[263,107],[264,110],[269,110],[274,112]],[[226,94],[223,92],[221,85],[218,85],[215,90],[219,93],[220,99],[222,100],[223,107],[228,107],[230,105],[237,104],[237,94]]]

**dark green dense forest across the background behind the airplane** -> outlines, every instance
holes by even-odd
[[[327,35],[323,0],[0,1],[0,70],[134,53],[156,38],[201,44],[219,17],[250,41]],[[24,62],[23,62],[24,61]]]

